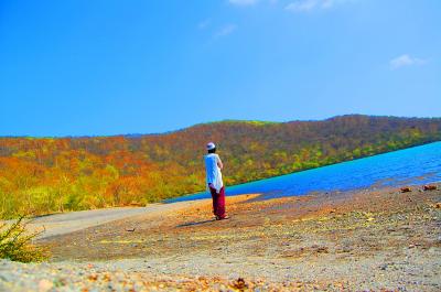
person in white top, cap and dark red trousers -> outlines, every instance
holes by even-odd
[[[213,198],[213,213],[216,220],[228,219],[225,214],[225,186],[222,181],[220,170],[224,167],[219,155],[216,154],[216,145],[213,142],[206,145],[207,154],[204,156],[207,190]]]

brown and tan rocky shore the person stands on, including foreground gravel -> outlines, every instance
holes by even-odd
[[[441,291],[441,192],[228,198],[41,238],[47,263],[0,262],[4,291]]]

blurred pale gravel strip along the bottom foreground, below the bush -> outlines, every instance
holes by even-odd
[[[144,261],[141,261],[144,266]],[[341,291],[319,281],[268,283],[261,279],[169,275],[140,269],[141,262],[31,263],[0,261],[0,291]]]

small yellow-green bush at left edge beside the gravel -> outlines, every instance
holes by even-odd
[[[32,262],[47,259],[47,250],[32,245],[32,239],[41,232],[28,234],[23,216],[13,224],[0,226],[0,258],[12,261]]]

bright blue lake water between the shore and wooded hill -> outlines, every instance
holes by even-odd
[[[311,192],[353,191],[441,181],[441,142],[343,162],[314,170],[226,186],[227,195],[299,196]],[[208,193],[169,202],[211,197]]]

